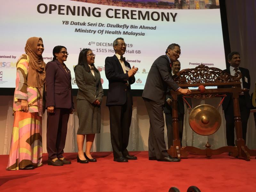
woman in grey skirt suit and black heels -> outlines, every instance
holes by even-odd
[[[88,163],[97,160],[91,156],[92,143],[95,133],[100,133],[100,104],[103,89],[100,72],[94,66],[95,54],[91,49],[83,49],[75,67],[77,93],[77,115],[79,127],[77,130],[77,162]],[[85,153],[83,152],[86,135]]]

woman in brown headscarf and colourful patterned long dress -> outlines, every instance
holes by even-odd
[[[13,130],[7,170],[34,169],[42,165],[42,114],[45,82],[43,40],[30,37],[26,54],[17,61],[13,100]]]

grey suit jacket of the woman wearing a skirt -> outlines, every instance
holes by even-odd
[[[91,72],[84,70],[81,65],[75,67],[76,84],[78,93],[76,99],[88,100],[93,103],[96,99],[102,103],[103,89],[100,80],[100,72],[94,70],[94,76]]]

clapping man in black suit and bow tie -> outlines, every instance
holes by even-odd
[[[108,79],[107,106],[109,108],[110,136],[114,161],[128,162],[137,157],[127,151],[130,125],[132,120],[131,84],[138,68],[131,68],[123,57],[126,51],[124,39],[119,37],[113,42],[115,55],[105,60],[105,74]]]

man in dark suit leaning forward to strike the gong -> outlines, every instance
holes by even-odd
[[[158,57],[152,64],[142,97],[148,111],[150,128],[148,135],[149,160],[174,162],[180,161],[168,155],[164,142],[163,107],[167,88],[182,94],[189,94],[189,89],[182,89],[172,79],[171,66],[180,57],[180,45],[170,44],[166,54]]]

